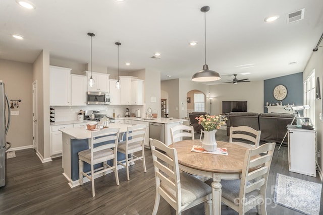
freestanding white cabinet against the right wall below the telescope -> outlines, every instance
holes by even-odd
[[[287,127],[289,171],[316,177],[315,130]]]

